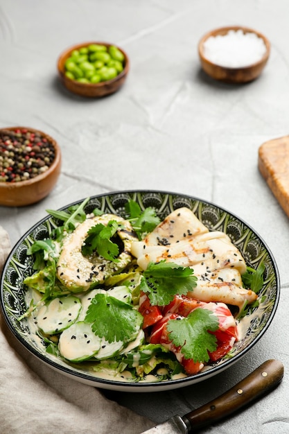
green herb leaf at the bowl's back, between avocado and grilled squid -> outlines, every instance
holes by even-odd
[[[128,200],[125,204],[125,211],[129,214],[130,218],[128,218],[128,220],[139,240],[141,240],[143,234],[152,232],[161,221],[155,209],[148,207],[141,211],[141,207],[137,202],[134,202],[134,200]]]

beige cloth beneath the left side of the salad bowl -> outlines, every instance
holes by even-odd
[[[0,275],[10,250],[0,227]],[[0,433],[138,434],[154,424],[99,389],[52,370],[12,335],[0,315]]]

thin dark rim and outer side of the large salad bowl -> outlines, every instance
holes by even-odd
[[[272,269],[274,270],[274,276],[276,279],[276,293],[275,293],[275,297],[274,297],[274,305],[272,306],[272,311],[270,312],[270,316],[269,316],[268,320],[265,322],[265,326],[261,329],[261,331],[259,331],[257,336],[254,336],[254,339],[251,342],[249,342],[249,344],[245,348],[241,349],[240,352],[238,352],[237,354],[234,354],[234,356],[232,358],[227,358],[225,361],[222,361],[222,363],[213,365],[213,367],[211,367],[209,370],[204,370],[203,372],[195,374],[194,376],[187,376],[187,377],[182,378],[182,379],[159,381],[159,382],[155,382],[155,383],[150,383],[150,382],[148,382],[148,383],[145,383],[145,382],[144,383],[125,383],[122,381],[115,381],[113,379],[112,380],[102,379],[102,378],[99,378],[96,376],[91,376],[89,374],[85,374],[85,372],[79,372],[76,370],[72,370],[71,367],[64,367],[64,366],[56,363],[55,361],[51,360],[50,358],[47,358],[44,354],[41,354],[32,345],[30,345],[30,343],[27,342],[27,340],[25,340],[23,338],[21,333],[19,333],[18,329],[16,329],[14,324],[11,322],[10,316],[6,312],[5,303],[3,300],[3,296],[4,296],[3,283],[5,280],[5,275],[6,275],[6,271],[8,269],[10,260],[12,259],[13,254],[15,254],[17,247],[19,245],[21,245],[21,243],[29,236],[29,234],[33,233],[33,231],[37,227],[40,227],[40,225],[42,225],[44,222],[46,222],[46,220],[49,220],[51,218],[51,216],[49,216],[49,215],[47,215],[44,218],[42,218],[41,220],[39,220],[37,223],[35,223],[35,225],[30,227],[30,229],[28,229],[28,231],[23,236],[21,236],[19,241],[17,241],[17,243],[12,248],[8,258],[6,259],[6,263],[3,267],[3,273],[1,276],[0,306],[1,306],[1,311],[3,313],[3,318],[5,319],[6,324],[8,325],[8,329],[10,329],[10,331],[17,338],[17,340],[19,340],[19,342],[21,342],[21,344],[24,345],[24,347],[26,347],[26,349],[28,349],[28,351],[30,351],[30,353],[34,354],[34,356],[36,356],[37,358],[40,358],[41,361],[48,364],[54,370],[60,371],[60,372],[62,372],[62,374],[67,375],[67,376],[73,376],[74,379],[76,379],[82,383],[88,383],[90,385],[94,385],[95,387],[112,389],[112,390],[118,390],[119,389],[119,390],[128,391],[128,392],[153,392],[153,391],[157,392],[160,390],[169,390],[169,389],[173,389],[173,388],[180,388],[180,387],[184,387],[186,385],[195,384],[195,383],[198,383],[200,381],[209,379],[211,376],[214,376],[214,375],[222,372],[223,370],[227,369],[227,367],[230,367],[231,365],[233,365],[234,363],[239,361],[240,358],[243,358],[243,356],[245,356],[245,354],[247,354],[247,352],[250,349],[252,349],[252,347],[254,347],[254,345],[256,345],[256,342],[258,342],[261,339],[261,337],[263,336],[265,331],[267,331],[268,327],[270,326],[270,324],[274,318],[274,315],[277,311],[277,306],[279,304],[279,297],[280,297],[280,278],[279,278],[279,270],[277,268],[277,263],[276,263],[273,255],[272,255],[270,249],[268,248],[268,245],[265,243],[265,241],[263,241],[263,238],[250,225],[248,225],[245,222],[245,220],[243,220],[242,218],[239,218],[238,216],[236,216],[236,214],[231,213],[231,211],[227,211],[227,209],[220,207],[219,205],[216,205],[216,203],[210,202],[208,200],[203,200],[203,199],[200,199],[200,198],[195,197],[195,196],[190,196],[187,194],[177,193],[177,192],[173,192],[173,191],[138,189],[138,190],[111,191],[108,193],[100,193],[100,194],[95,195],[95,196],[89,196],[89,202],[91,202],[93,200],[98,200],[98,199],[101,200],[102,198],[106,199],[106,198],[109,198],[111,196],[117,197],[117,196],[132,195],[132,194],[135,194],[135,195],[138,195],[138,194],[141,194],[141,195],[145,195],[145,194],[158,195],[159,194],[159,195],[164,195],[164,196],[168,196],[168,197],[180,198],[183,200],[190,200],[193,202],[200,203],[202,205],[216,208],[220,211],[225,212],[225,214],[227,214],[228,216],[231,216],[232,218],[235,218],[236,220],[238,220],[239,223],[241,223],[242,225],[247,227],[247,229],[249,229],[249,231],[252,234],[254,234],[254,236],[256,236],[256,238],[259,239],[259,243],[261,243],[263,245],[263,248],[267,252],[268,257],[270,257],[270,261],[272,263]],[[71,202],[69,205],[65,205],[64,207],[59,208],[59,210],[67,209],[68,207],[71,207],[73,205],[78,205],[78,204],[82,203],[83,200],[85,200],[85,199],[76,200],[75,202]],[[88,204],[89,204],[89,202],[88,202]]]

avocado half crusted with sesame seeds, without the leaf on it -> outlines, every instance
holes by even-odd
[[[85,244],[89,229],[98,223],[107,225],[111,220],[119,224],[116,234],[119,237],[121,249],[117,261],[104,259],[97,252],[85,257],[82,254],[82,245]],[[71,234],[64,237],[57,265],[58,279],[72,293],[81,293],[98,284],[103,284],[105,279],[121,272],[132,261],[130,248],[132,241],[136,240],[137,235],[134,234],[128,220],[114,214],[87,218]]]

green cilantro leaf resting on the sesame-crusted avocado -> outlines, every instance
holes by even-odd
[[[83,254],[89,255],[96,250],[107,261],[119,261],[117,259],[119,256],[119,246],[110,239],[114,236],[117,229],[119,229],[119,224],[116,220],[110,220],[107,225],[98,223],[94,227],[91,227],[85,240],[85,245],[82,248]]]

